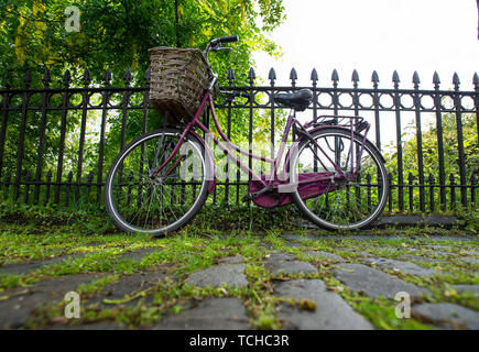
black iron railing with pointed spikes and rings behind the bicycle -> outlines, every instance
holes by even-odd
[[[101,201],[101,190],[109,165],[115,155],[132,138],[161,127],[160,119],[152,118],[149,100],[149,72],[142,87],[131,87],[132,74],[124,74],[123,87],[111,87],[111,73],[108,70],[101,87],[91,85],[89,70],[83,76],[81,87],[72,87],[72,77],[66,72],[57,88],[51,87],[50,73],[43,77],[43,87],[31,86],[31,75],[24,77],[24,87],[0,89],[0,197],[31,204],[56,202],[65,206],[74,201]],[[274,105],[276,92],[309,88],[314,92],[313,103],[304,119],[320,114],[349,113],[366,117],[372,124],[369,138],[390,155],[389,210],[438,211],[456,209],[459,197],[461,207],[476,209],[478,176],[477,153],[479,136],[470,139],[465,151],[464,119],[472,119],[472,133],[479,124],[479,77],[473,76],[473,90],[461,90],[459,77],[453,78],[454,89],[442,90],[437,74],[434,75],[434,89],[421,89],[417,73],[413,76],[413,89],[400,88],[396,72],[392,77],[391,89],[379,88],[379,77],[372,74],[372,87],[359,88],[359,75],[352,73],[352,87],[340,88],[338,73],[333,72],[333,87],[318,86],[315,69],[311,74],[311,86],[298,87],[297,75],[291,70],[291,86],[276,87],[276,74],[270,70],[269,85],[255,86],[255,73],[248,73],[249,85],[235,86],[235,73],[227,75],[228,90],[249,95],[248,101],[219,100],[226,134],[235,140],[236,112],[248,116],[244,129],[251,145],[257,111],[263,110],[269,118],[269,140],[274,153],[275,134],[280,127],[282,109]],[[244,95],[243,95],[244,96]],[[433,118],[431,129],[424,131],[425,116]],[[445,131],[444,117],[451,117],[450,127]],[[205,116],[209,123],[208,116]],[[405,153],[404,122],[411,120],[415,133],[415,151]],[[109,131],[107,131],[109,129]],[[470,129],[470,123],[468,125]],[[394,131],[392,131],[394,130]],[[387,131],[387,133],[384,133]],[[393,148],[388,150],[384,140],[390,134]],[[428,133],[428,145],[423,138]],[[444,135],[445,133],[449,133]],[[469,131],[470,133],[470,131]],[[434,152],[431,151],[431,136],[434,134]],[[470,145],[472,143],[472,146]],[[420,147],[417,147],[417,145]],[[437,148],[437,151],[436,151]],[[251,150],[251,146],[250,146]],[[471,152],[472,151],[472,152]],[[425,167],[425,152],[433,155],[435,163]],[[450,156],[454,161],[448,161]],[[431,158],[431,157],[429,157]],[[437,160],[436,160],[437,158]],[[411,161],[413,160],[413,162]],[[250,167],[252,160],[249,161]],[[231,167],[231,166],[227,166]],[[236,179],[219,180],[213,196],[214,202],[239,202],[247,193],[247,180],[239,170]],[[405,179],[406,178],[406,179]],[[241,194],[241,196],[240,196]]]

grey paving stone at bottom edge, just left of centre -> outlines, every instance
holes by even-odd
[[[247,311],[238,298],[206,298],[197,307],[168,315],[154,330],[248,330]]]

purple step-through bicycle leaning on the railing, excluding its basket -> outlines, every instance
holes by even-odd
[[[204,57],[225,48],[238,36],[211,40]],[[251,154],[233,145],[222,132],[213,99],[217,75],[204,91],[193,118],[177,128],[148,132],[124,147],[115,160],[105,185],[105,202],[116,226],[126,232],[165,235],[188,223],[215,189],[215,160],[196,130],[210,133],[199,118],[209,107],[222,142],[214,143],[250,177],[243,201],[272,208],[295,204],[317,226],[359,229],[371,223],[388,198],[388,176],[380,151],[368,139],[370,124],[360,117],[320,116],[304,125],[295,118],[313,99],[309,89],[275,94],[274,101],[291,109],[276,157]],[[221,91],[229,99],[241,94]],[[286,154],[290,132],[297,139]],[[210,135],[210,134],[209,134]],[[257,175],[237,153],[272,165],[271,175]],[[283,154],[283,169],[279,169]]]

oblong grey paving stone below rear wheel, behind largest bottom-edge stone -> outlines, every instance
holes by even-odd
[[[339,264],[333,275],[355,292],[363,292],[369,297],[383,296],[394,298],[399,292],[411,297],[429,293],[428,289],[414,286],[363,264]]]

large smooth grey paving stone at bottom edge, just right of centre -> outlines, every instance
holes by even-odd
[[[316,304],[314,311],[281,304],[277,317],[285,329],[371,330],[373,327],[357,314],[338,294],[328,290],[320,279],[294,279],[274,285],[275,295]]]

